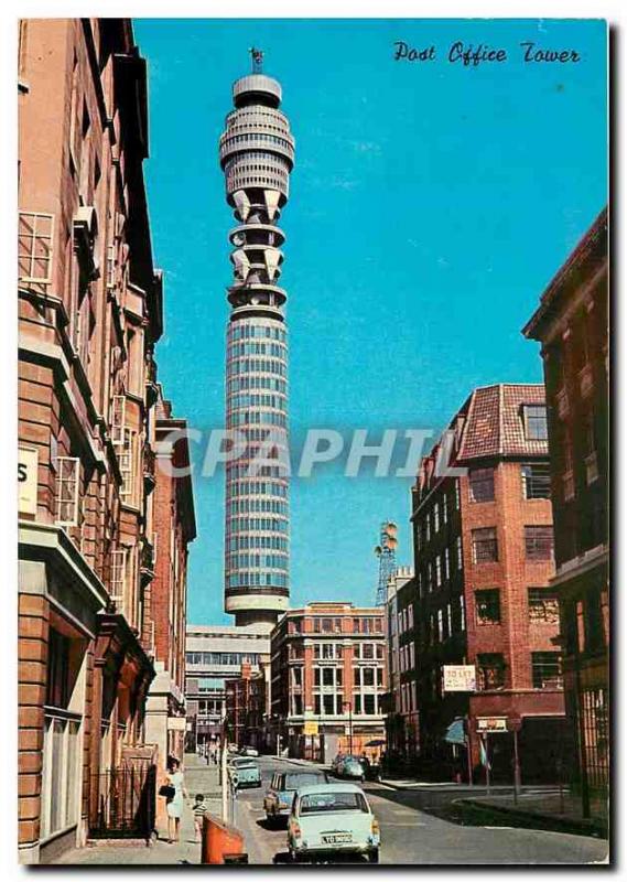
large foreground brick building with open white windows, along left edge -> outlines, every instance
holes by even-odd
[[[159,761],[144,732],[162,333],[145,77],[128,20],[20,23],[19,849],[29,863],[110,832],[101,809],[112,775],[141,767],[149,786]]]

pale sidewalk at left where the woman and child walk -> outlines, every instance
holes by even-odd
[[[207,766],[204,760],[195,754],[185,754],[183,768],[185,775],[185,788],[190,794],[190,802],[185,805],[183,817],[181,818],[181,839],[176,845],[170,845],[166,840],[167,830],[160,829],[156,840],[152,846],[132,840],[125,843],[121,841],[108,840],[99,842],[91,840],[86,848],[73,849],[65,852],[55,863],[80,863],[80,864],[186,864],[201,863],[201,845],[196,842],[194,817],[191,810],[191,800],[196,793],[205,795],[205,802],[210,813],[219,815],[221,811],[221,799],[218,785],[218,767]],[[208,797],[208,798],[207,798]],[[162,798],[160,796],[158,799]]]

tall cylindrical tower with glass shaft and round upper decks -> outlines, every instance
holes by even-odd
[[[278,283],[294,139],[281,86],[253,73],[234,84],[219,142],[230,230],[226,426],[241,454],[226,467],[225,610],[236,624],[275,622],[289,596],[287,292]]]

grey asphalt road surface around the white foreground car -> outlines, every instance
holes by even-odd
[[[263,794],[284,760],[262,756],[260,789],[240,790],[236,824],[244,832],[250,863],[288,860],[287,832],[268,827]],[[604,861],[607,842],[585,836],[509,827],[464,827],[421,811],[417,794],[366,783],[381,827],[380,862],[387,864],[581,864]]]

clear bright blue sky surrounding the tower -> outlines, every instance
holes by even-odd
[[[606,202],[602,21],[136,20],[149,63],[145,163],[156,265],[165,272],[159,376],[176,416],[224,426],[230,280],[217,141],[230,86],[260,46],[281,80],[296,168],[281,225],[294,435],[443,428],[474,386],[540,381],[520,329]],[[435,45],[394,62],[393,43]],[[463,67],[452,43],[504,47]],[[519,44],[575,50],[525,64]],[[315,473],[314,473],[315,474]],[[411,481],[294,481],[293,605],[374,602],[379,524],[411,562]],[[188,621],[223,613],[224,481],[195,481]]]

